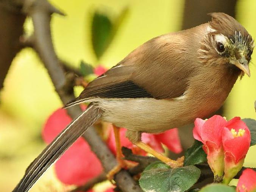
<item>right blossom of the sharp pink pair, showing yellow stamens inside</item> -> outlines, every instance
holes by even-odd
[[[222,133],[222,143],[225,153],[224,183],[228,184],[242,168],[245,156],[250,147],[250,142],[250,131],[240,117],[234,117],[227,122]]]

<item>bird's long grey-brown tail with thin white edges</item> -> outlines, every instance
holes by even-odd
[[[25,175],[12,192],[27,192],[40,176],[101,117],[101,109],[94,104],[74,119],[28,166]]]

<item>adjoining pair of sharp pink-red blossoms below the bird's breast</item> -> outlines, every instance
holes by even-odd
[[[208,164],[214,176],[222,176],[228,184],[244,164],[250,147],[251,135],[240,117],[226,121],[221,116],[213,116],[204,121],[195,120],[194,138],[201,141],[207,154]]]

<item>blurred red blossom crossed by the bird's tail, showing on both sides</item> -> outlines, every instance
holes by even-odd
[[[70,122],[65,109],[53,112],[42,130],[44,141],[49,144]],[[80,137],[56,162],[55,170],[62,183],[81,185],[98,176],[103,169],[87,142]]]

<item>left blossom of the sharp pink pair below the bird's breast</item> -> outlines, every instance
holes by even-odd
[[[193,130],[194,138],[201,141],[207,154],[208,164],[214,176],[222,176],[224,172],[224,152],[222,147],[222,131],[226,125],[222,116],[212,116],[208,120],[197,118]]]

